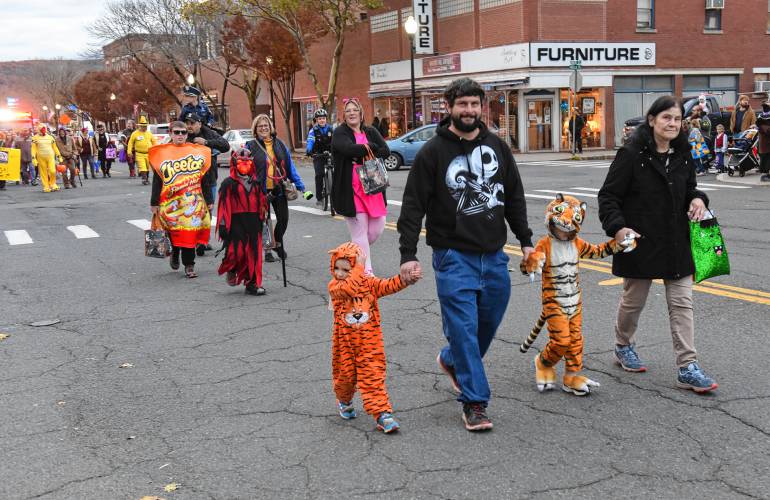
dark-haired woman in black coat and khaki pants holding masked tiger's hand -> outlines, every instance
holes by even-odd
[[[701,220],[708,197],[696,189],[695,166],[684,109],[676,97],[658,98],[647,122],[615,156],[599,191],[599,218],[608,236],[622,241],[631,234],[636,250],[613,256],[612,273],[623,278],[623,296],[615,323],[615,357],[626,371],[646,371],[634,345],[639,315],[653,279],[663,279],[671,336],[679,367],[677,385],[696,392],[717,384],[698,365],[694,345],[688,219]]]

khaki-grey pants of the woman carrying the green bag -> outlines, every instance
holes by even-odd
[[[671,325],[676,364],[684,368],[697,359],[692,312],[692,276],[663,280],[663,283],[666,286],[668,321]],[[615,323],[615,342],[618,345],[634,343],[639,315],[647,302],[651,284],[652,280],[623,278],[623,296],[618,305],[618,318]]]

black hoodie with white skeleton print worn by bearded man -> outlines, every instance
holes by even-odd
[[[417,153],[398,218],[401,263],[417,260],[424,216],[432,247],[496,252],[508,240],[506,221],[522,246],[532,246],[511,148],[483,123],[478,136],[467,141],[449,130],[447,117]]]

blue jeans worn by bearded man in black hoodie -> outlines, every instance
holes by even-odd
[[[503,320],[511,296],[508,255],[433,249],[441,322],[449,345],[441,360],[455,369],[463,403],[489,401],[482,358]]]

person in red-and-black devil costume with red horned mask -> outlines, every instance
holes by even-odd
[[[264,174],[263,174],[264,176]],[[242,149],[230,160],[230,176],[219,187],[217,235],[225,257],[219,274],[227,273],[227,284],[246,284],[246,293],[264,295],[262,288],[262,225],[267,198],[262,191],[250,153]]]

